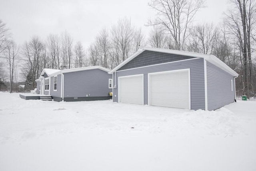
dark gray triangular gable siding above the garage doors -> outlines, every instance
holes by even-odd
[[[174,61],[180,61],[180,60],[186,60],[194,58],[191,56],[182,56],[182,55],[176,55],[176,54],[166,54],[162,52],[153,52],[145,50],[136,58],[132,59],[130,62],[122,66],[119,70],[126,70],[130,68],[138,68],[142,66],[149,66],[154,64],[163,64],[166,62],[174,62]]]

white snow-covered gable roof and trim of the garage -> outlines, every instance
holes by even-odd
[[[125,64],[130,62],[132,59],[134,59],[136,56],[140,55],[142,52],[146,50],[154,51],[154,52],[162,52],[166,54],[176,54],[176,55],[182,55],[182,56],[191,56],[195,58],[203,58],[204,60],[218,66],[219,68],[222,68],[224,71],[228,72],[232,76],[235,76],[235,77],[238,76],[238,74],[234,72],[234,70],[232,70],[229,66],[227,66],[224,62],[222,62],[220,59],[218,59],[214,55],[200,54],[195,52],[186,52],[186,51],[180,51],[180,50],[162,49],[162,48],[147,48],[147,47],[139,49],[137,52],[132,54],[132,56],[130,56],[129,58],[124,60],[121,64],[119,64],[118,66],[113,68],[110,72],[108,72],[108,74],[113,74],[116,70],[120,69],[122,66],[124,66]]]

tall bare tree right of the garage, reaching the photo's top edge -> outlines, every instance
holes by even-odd
[[[226,13],[226,26],[238,42],[241,54],[242,82],[250,97],[252,90],[251,32],[254,29],[256,6],[254,0],[230,0],[232,8]]]

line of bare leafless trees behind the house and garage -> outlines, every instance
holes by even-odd
[[[128,18],[111,28],[102,28],[85,48],[67,32],[49,34],[46,40],[33,36],[18,46],[0,20],[0,85],[9,78],[10,92],[16,68],[22,64],[26,88],[34,89],[43,68],[68,69],[103,66],[112,69],[144,46],[213,54],[236,71],[236,94],[256,95],[256,6],[255,0],[230,0],[219,24],[195,24],[194,17],[204,0],[152,0],[148,6],[156,18],[145,21],[145,35]],[[4,72],[7,70],[8,74]],[[8,76],[7,76],[8,75]]]

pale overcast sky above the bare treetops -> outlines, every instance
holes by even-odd
[[[119,18],[131,19],[132,24],[147,33],[144,26],[155,12],[150,0],[0,0],[0,19],[10,28],[14,40],[23,44],[32,36],[42,39],[67,30],[74,42],[88,48],[102,28],[111,28]],[[218,23],[226,10],[227,0],[206,0],[195,22]]]

